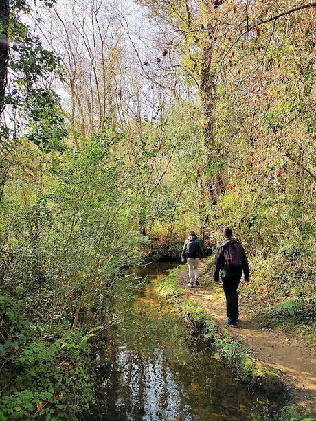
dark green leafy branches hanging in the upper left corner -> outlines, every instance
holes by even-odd
[[[54,1],[46,1],[45,5],[52,3]],[[10,89],[5,93],[4,103],[14,125],[8,126],[4,122],[0,130],[8,148],[14,146],[16,149],[16,139],[27,133],[30,141],[49,152],[63,148],[62,141],[67,135],[60,98],[51,88],[47,88],[48,80],[63,80],[64,73],[60,58],[45,49],[33,29],[25,23],[23,14],[30,14],[30,11],[30,3],[10,1],[6,28],[10,45]],[[38,86],[38,80],[41,80],[42,87]],[[47,82],[45,88],[43,82]]]

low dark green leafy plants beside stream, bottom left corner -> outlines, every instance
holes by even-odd
[[[3,419],[74,419],[93,400],[89,335],[30,326],[8,296],[0,295]],[[10,345],[8,345],[10,343]]]

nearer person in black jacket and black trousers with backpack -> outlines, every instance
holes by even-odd
[[[232,229],[228,227],[224,229],[224,241],[216,250],[214,265],[215,282],[219,281],[220,273],[223,281],[228,317],[226,325],[236,328],[239,317],[237,288],[242,271],[245,281],[249,282],[249,266],[244,248],[232,238]]]

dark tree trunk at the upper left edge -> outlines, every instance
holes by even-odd
[[[7,86],[7,72],[9,59],[8,22],[9,0],[0,0],[0,25],[3,30],[0,33],[0,115],[5,108],[5,87]]]

